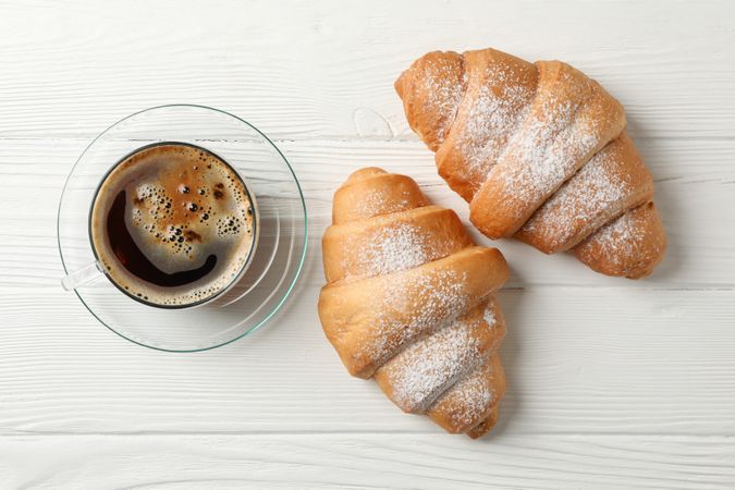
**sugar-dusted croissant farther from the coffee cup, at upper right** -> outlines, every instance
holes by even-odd
[[[571,252],[598,272],[633,279],[663,258],[653,180],[623,107],[581,72],[493,49],[437,51],[395,89],[440,175],[488,237]]]

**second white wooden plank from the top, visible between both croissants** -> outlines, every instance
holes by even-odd
[[[735,142],[642,139],[640,150],[656,175],[657,203],[669,234],[669,252],[653,277],[642,281],[605,278],[573,257],[546,256],[512,241],[478,242],[500,247],[513,269],[511,287],[535,285],[605,287],[732,287],[735,284],[735,192],[732,157]],[[62,274],[56,217],[66,173],[87,140],[5,139],[0,146],[0,285],[56,285]],[[310,220],[310,262],[306,278],[320,284],[319,241],[331,219],[334,189],[364,166],[414,176],[437,203],[457,210],[467,222],[466,204],[437,175],[431,154],[411,142],[280,142],[301,177]]]

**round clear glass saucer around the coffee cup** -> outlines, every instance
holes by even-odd
[[[103,274],[74,292],[102,324],[131,342],[160,351],[206,351],[257,330],[283,306],[306,258],[306,205],[283,154],[252,124],[203,106],[147,109],[100,134],[66,179],[59,204],[58,237],[68,274],[95,261],[88,219],[101,179],[121,157],[160,142],[204,147],[247,181],[260,226],[247,271],[213,302],[183,309],[136,302]]]

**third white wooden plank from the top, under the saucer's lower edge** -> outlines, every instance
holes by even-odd
[[[58,287],[5,287],[0,434],[439,434],[346,373],[319,327],[317,295],[302,284],[252,338],[186,355],[113,335]],[[500,431],[735,436],[734,291],[537,287],[505,290],[500,302]]]

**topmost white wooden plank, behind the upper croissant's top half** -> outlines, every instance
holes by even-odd
[[[0,136],[84,136],[162,103],[232,111],[277,138],[413,138],[392,84],[436,49],[562,59],[634,135],[733,137],[726,1],[3,2]],[[32,21],[29,21],[32,20]]]

